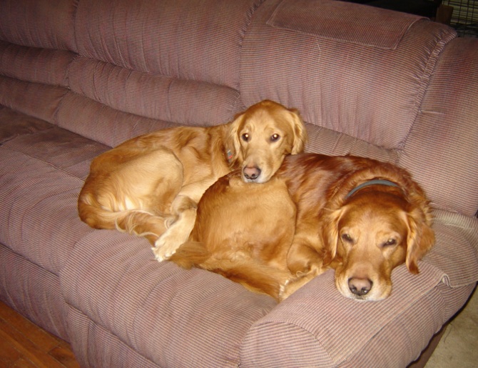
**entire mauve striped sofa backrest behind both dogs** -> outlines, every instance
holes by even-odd
[[[393,161],[473,215],[477,42],[331,0],[5,0],[0,104],[116,146],[273,99],[300,110],[307,151]]]

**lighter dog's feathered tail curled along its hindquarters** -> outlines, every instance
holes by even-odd
[[[78,214],[81,221],[93,229],[117,229],[120,232],[146,237],[155,244],[161,235],[166,232],[165,219],[140,209],[111,211],[101,206],[90,204],[88,200],[78,199]]]

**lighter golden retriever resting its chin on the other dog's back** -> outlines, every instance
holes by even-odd
[[[189,237],[208,187],[233,169],[265,183],[307,133],[298,111],[260,101],[227,124],[163,129],[96,157],[78,197],[78,213],[95,229],[146,237],[158,261]]]

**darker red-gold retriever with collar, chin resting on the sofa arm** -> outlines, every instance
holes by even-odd
[[[268,183],[240,171],[204,194],[171,261],[222,274],[281,301],[327,268],[345,297],[390,295],[392,269],[413,274],[434,244],[429,202],[410,174],[356,156],[298,154]]]

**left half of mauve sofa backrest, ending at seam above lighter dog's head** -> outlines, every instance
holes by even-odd
[[[0,104],[108,146],[225,123],[243,108],[240,46],[260,2],[2,1]]]

